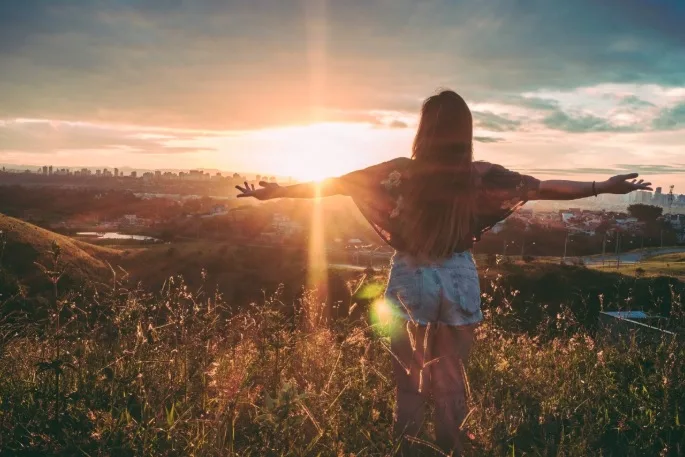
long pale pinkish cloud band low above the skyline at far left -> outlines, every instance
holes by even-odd
[[[185,154],[206,151],[192,145],[200,132],[130,129],[47,120],[0,123],[0,152],[120,150],[141,154]]]

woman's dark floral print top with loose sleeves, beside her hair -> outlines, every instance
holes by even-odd
[[[402,223],[403,176],[413,160],[400,157],[378,165],[353,171],[339,179],[345,194],[371,223],[383,240],[402,251],[398,226]],[[531,191],[538,190],[540,181],[522,175],[501,165],[474,162],[479,174],[475,226],[471,239],[464,240],[463,250],[468,250],[481,235],[528,201]]]

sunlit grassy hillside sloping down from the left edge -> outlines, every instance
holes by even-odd
[[[76,241],[3,214],[0,232],[0,293],[5,297],[18,288],[26,295],[49,289],[48,278],[37,264],[52,268],[53,243],[59,246],[65,271],[60,284],[104,279],[111,274],[106,262],[120,257],[116,249]]]

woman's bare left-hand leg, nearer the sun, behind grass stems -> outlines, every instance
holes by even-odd
[[[410,336],[409,332],[412,332]],[[425,422],[426,389],[430,387],[428,369],[421,370],[424,360],[423,341],[425,326],[407,325],[406,321],[397,321],[393,326],[390,338],[390,349],[393,353],[393,374],[397,389],[395,391],[395,414],[393,432],[401,440],[401,454],[411,455],[411,437],[417,437]],[[408,437],[408,438],[407,438]]]

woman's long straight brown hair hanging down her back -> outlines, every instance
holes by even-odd
[[[414,138],[414,166],[403,195],[406,251],[438,259],[473,238],[473,118],[457,93],[426,99]]]

